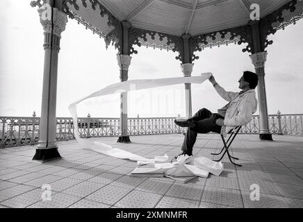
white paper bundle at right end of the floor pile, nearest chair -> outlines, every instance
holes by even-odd
[[[213,175],[215,175],[215,176],[219,176],[220,173],[223,171],[222,162],[215,162],[206,157],[195,158],[195,166],[199,167],[199,169],[204,169],[205,171],[208,171],[209,173],[213,173]]]

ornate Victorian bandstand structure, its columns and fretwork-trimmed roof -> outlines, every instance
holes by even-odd
[[[272,140],[265,92],[266,48],[275,34],[303,17],[300,0],[38,0],[44,28],[44,77],[40,141],[34,160],[60,157],[56,145],[56,88],[61,33],[67,18],[99,35],[117,49],[120,80],[127,81],[134,46],[150,46],[179,53],[183,76],[190,76],[197,51],[222,44],[243,44],[259,75],[260,139]],[[176,76],[178,77],[178,76]],[[185,84],[186,116],[192,115],[191,86]],[[127,94],[121,94],[127,110]],[[130,142],[127,113],[120,115],[120,137]]]

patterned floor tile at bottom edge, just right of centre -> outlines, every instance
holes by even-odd
[[[156,208],[197,208],[199,201],[163,196]]]

